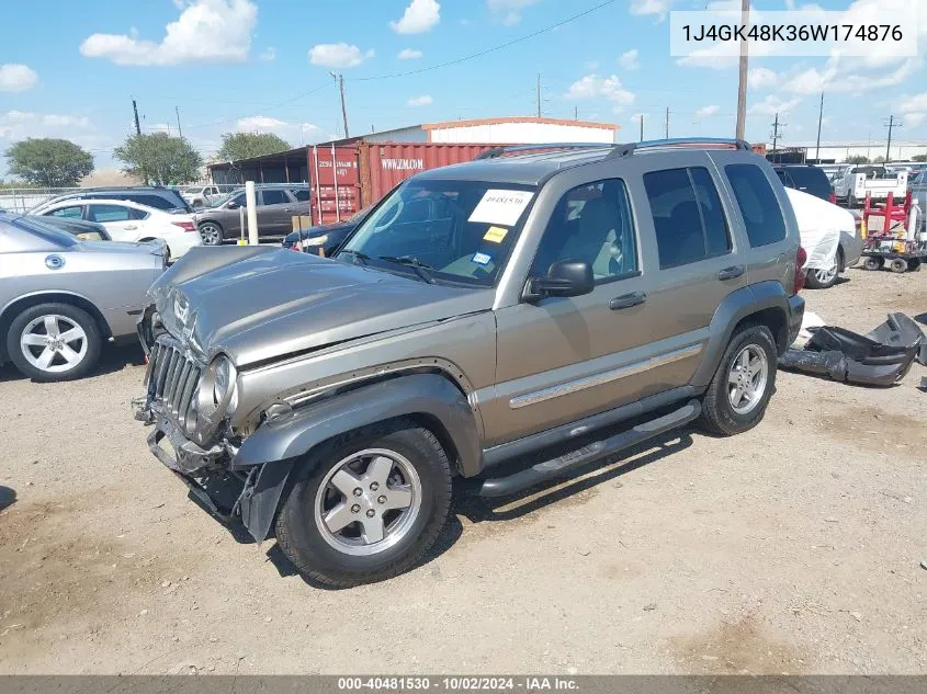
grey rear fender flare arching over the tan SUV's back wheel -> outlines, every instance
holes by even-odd
[[[737,323],[744,318],[770,309],[777,314],[781,311],[780,319],[785,334],[773,334],[772,337],[780,352],[782,352],[788,346],[783,346],[783,342],[787,343],[789,341],[792,309],[789,297],[785,295],[785,288],[780,282],[775,280],[758,282],[741,287],[725,296],[724,300],[715,309],[714,316],[712,316],[711,322],[709,323],[709,334],[711,337],[705,345],[704,359],[692,376],[691,385],[697,388],[708,387],[714,376],[714,372],[717,371],[717,364],[724,355],[724,350],[727,349],[727,343],[731,341],[731,335],[734,333],[734,328]],[[801,317],[799,317],[799,321],[801,321]]]

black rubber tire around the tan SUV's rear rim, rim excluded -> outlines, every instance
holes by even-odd
[[[762,350],[767,360],[767,377],[757,405],[745,413],[734,410],[728,397],[728,374],[733,362],[748,346]],[[766,413],[769,398],[776,390],[777,350],[772,332],[766,326],[744,325],[731,337],[717,371],[702,398],[700,423],[713,434],[733,436],[756,426]]]

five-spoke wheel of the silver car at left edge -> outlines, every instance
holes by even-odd
[[[97,322],[70,304],[39,304],[13,319],[7,353],[24,375],[41,382],[86,375],[100,356]]]

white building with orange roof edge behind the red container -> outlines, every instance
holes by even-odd
[[[394,130],[381,130],[362,137],[368,143],[613,144],[618,141],[615,139],[618,129],[619,126],[612,123],[509,116],[422,123]]]

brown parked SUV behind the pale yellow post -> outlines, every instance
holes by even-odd
[[[293,217],[310,215],[309,186],[305,183],[269,183],[255,186],[258,237],[279,241],[293,230]],[[206,246],[219,246],[241,237],[245,191],[235,191],[216,201],[213,207],[196,213],[196,224]]]

